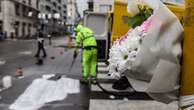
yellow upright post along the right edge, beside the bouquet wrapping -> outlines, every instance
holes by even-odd
[[[194,94],[194,1],[185,0],[181,95]]]

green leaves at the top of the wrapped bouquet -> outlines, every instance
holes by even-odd
[[[145,20],[147,20],[152,14],[153,9],[146,5],[138,5],[139,13],[133,17],[129,17],[128,24],[132,28],[140,26]]]

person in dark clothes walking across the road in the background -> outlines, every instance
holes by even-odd
[[[44,34],[41,30],[38,30],[38,34],[37,34],[37,46],[38,46],[38,50],[37,53],[35,55],[35,57],[39,58],[40,56],[40,51],[43,52],[43,57],[46,58],[47,54],[44,48]]]

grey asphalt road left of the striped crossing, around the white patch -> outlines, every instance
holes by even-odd
[[[52,46],[48,45],[46,40],[45,48],[48,57],[43,59],[43,65],[38,66],[35,64],[37,59],[34,57],[35,40],[0,42],[0,76],[14,76],[19,67],[22,68],[24,74],[22,79],[13,77],[13,86],[0,92],[2,96],[0,110],[9,110],[9,105],[25,91],[34,79],[42,77],[43,74],[64,73],[70,78],[81,78],[81,54],[78,55],[72,70],[68,72],[73,60],[73,49],[65,51],[64,48],[56,46],[65,43],[64,37],[53,40]],[[39,110],[88,110],[89,92],[88,86],[81,85],[79,94],[70,94],[65,100],[48,103]]]

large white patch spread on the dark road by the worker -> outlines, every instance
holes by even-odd
[[[64,100],[68,94],[79,93],[79,86],[78,80],[70,78],[61,78],[57,81],[35,79],[9,108],[37,110],[46,103]]]

